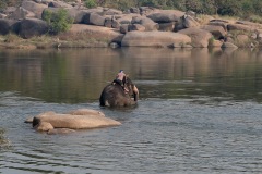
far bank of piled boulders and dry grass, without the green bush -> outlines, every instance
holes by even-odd
[[[67,33],[49,37],[43,13],[56,12],[61,8],[74,22]],[[81,1],[24,0],[21,7],[8,8],[0,13],[0,47],[20,49],[255,48],[262,44],[262,24],[258,23],[150,7],[130,8],[124,12],[100,7],[87,9]],[[19,37],[10,38],[10,33]]]

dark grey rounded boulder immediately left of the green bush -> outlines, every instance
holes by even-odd
[[[25,39],[48,33],[46,22],[38,18],[25,18],[20,23],[19,35]]]

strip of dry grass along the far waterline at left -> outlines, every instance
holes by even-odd
[[[62,33],[23,39],[15,34],[0,35],[0,47],[9,49],[90,48],[108,47],[109,39],[91,33]]]

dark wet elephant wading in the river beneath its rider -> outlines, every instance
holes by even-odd
[[[123,78],[123,84],[128,91],[124,91],[123,87],[117,80],[107,85],[100,94],[100,107],[115,108],[135,105],[139,100],[139,89],[128,76]]]

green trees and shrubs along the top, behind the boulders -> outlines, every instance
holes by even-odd
[[[73,0],[63,0],[73,1]],[[22,0],[1,0],[0,12],[7,7],[20,5]],[[83,0],[87,8],[107,7],[119,10],[128,10],[131,7],[154,7],[159,9],[177,9],[181,11],[194,11],[198,14],[229,15],[261,22],[261,0]]]

